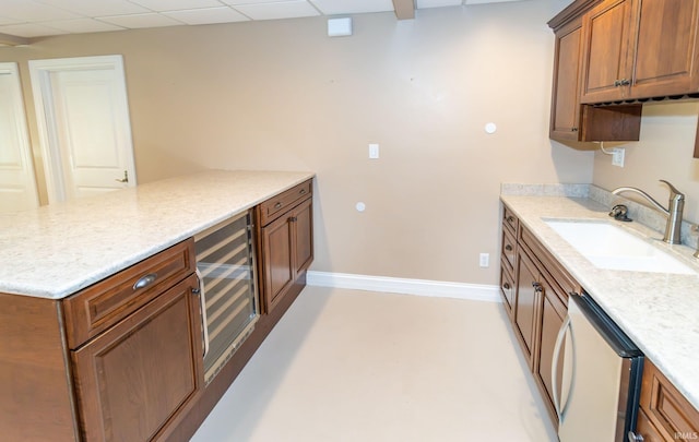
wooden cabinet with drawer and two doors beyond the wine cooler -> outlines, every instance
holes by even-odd
[[[263,312],[269,313],[295,284],[305,282],[313,260],[311,181],[258,206]]]

